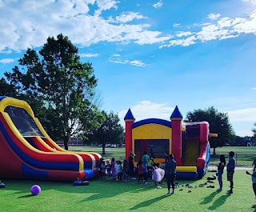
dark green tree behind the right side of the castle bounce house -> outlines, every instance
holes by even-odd
[[[215,149],[220,146],[225,146],[234,140],[234,130],[230,124],[228,114],[218,112],[214,106],[205,110],[194,110],[186,114],[186,122],[209,122],[210,132],[218,134],[218,138],[210,138],[210,147]]]

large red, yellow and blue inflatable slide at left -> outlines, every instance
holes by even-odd
[[[98,176],[100,158],[63,150],[27,102],[0,97],[0,178],[82,181]]]

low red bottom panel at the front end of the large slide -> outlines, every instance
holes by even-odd
[[[65,171],[65,170],[48,170],[48,179],[54,181],[62,181],[62,182],[70,182],[70,180],[75,181],[78,180],[85,180],[86,174],[82,171]]]

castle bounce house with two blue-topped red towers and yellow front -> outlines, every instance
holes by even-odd
[[[182,114],[175,107],[171,121],[149,118],[134,122],[129,109],[126,122],[126,159],[130,151],[136,156],[134,162],[142,158],[146,150],[156,162],[165,162],[166,155],[174,154],[177,162],[177,178],[194,180],[202,178],[210,162],[208,122],[190,122],[182,126]]]

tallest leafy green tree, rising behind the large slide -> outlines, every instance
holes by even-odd
[[[90,62],[82,63],[78,48],[62,34],[47,38],[42,50],[28,49],[6,78],[18,94],[25,94],[46,131],[62,139],[98,126],[101,113],[95,99],[97,79]],[[48,120],[48,121],[46,121]]]

